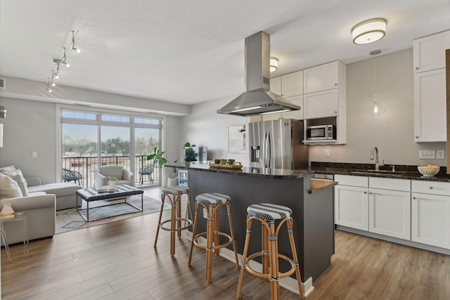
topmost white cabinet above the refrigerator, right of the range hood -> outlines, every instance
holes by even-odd
[[[283,98],[303,95],[303,70],[271,78],[270,90]]]

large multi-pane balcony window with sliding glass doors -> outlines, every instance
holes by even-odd
[[[134,174],[136,185],[160,185],[160,169],[140,176],[147,156],[161,148],[162,118],[61,109],[63,169],[83,176],[83,186],[95,186],[99,166],[120,165]]]

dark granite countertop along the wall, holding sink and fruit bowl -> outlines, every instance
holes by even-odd
[[[380,171],[368,171],[374,169],[374,164],[349,164],[336,162],[311,162],[311,170],[321,174],[341,174],[352,176],[371,176],[383,178],[411,179],[421,181],[450,182],[450,174],[446,174],[446,167],[440,167],[436,176],[425,177],[419,173],[417,166],[396,165],[395,172],[392,167],[380,167]]]

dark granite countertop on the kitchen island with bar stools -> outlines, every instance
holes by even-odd
[[[314,171],[311,170],[286,170],[286,169],[266,169],[266,168],[254,168],[254,167],[242,167],[242,169],[228,169],[212,167],[209,164],[195,164],[191,162],[189,166],[184,164],[165,164],[165,167],[207,171],[222,174],[233,174],[240,176],[251,176],[260,178],[276,178],[276,179],[295,179],[303,178],[305,175],[308,177],[314,176]]]

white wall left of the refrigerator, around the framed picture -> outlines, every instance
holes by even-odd
[[[182,144],[189,142],[197,146],[206,146],[208,159],[236,159],[236,162],[245,165],[245,154],[228,152],[228,126],[248,124],[250,118],[217,114],[217,110],[236,96],[238,95],[193,105],[191,115],[181,117],[180,138]]]

